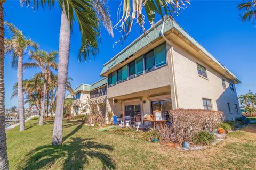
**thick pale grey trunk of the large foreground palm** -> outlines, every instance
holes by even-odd
[[[65,12],[61,12],[60,24],[60,44],[59,44],[59,69],[58,69],[58,88],[57,88],[57,104],[54,119],[52,145],[62,143],[62,123],[63,123],[63,107],[68,74],[68,57],[70,45],[70,23]]]

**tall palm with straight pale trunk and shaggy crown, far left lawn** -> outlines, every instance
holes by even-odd
[[[18,82],[18,112],[20,117],[20,131],[25,130],[24,121],[24,97],[23,97],[23,67],[22,60],[26,54],[27,49],[32,47],[37,50],[38,44],[31,39],[25,37],[23,33],[16,28],[12,23],[4,22],[7,29],[10,30],[11,38],[5,39],[5,53],[12,56],[12,66],[17,68],[17,82]]]

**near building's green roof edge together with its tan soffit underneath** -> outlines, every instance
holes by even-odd
[[[154,28],[147,30],[145,35],[141,35],[139,38],[135,39],[129,46],[125,47],[116,56],[111,58],[110,61],[104,64],[100,75],[107,77],[109,73],[115,71],[118,67],[124,65],[124,63],[126,64],[126,61],[130,61],[132,58],[136,57],[136,55],[143,49],[150,45],[154,45],[157,41],[163,41],[160,34],[162,24],[162,20],[158,21]],[[165,21],[163,33],[175,44],[187,47],[186,49],[189,50],[189,52],[193,52],[194,50],[194,52],[199,53],[200,55],[195,55],[200,57],[199,60],[209,64],[214,70],[225,75],[231,83],[241,83],[233,73],[231,73],[223,64],[207,52],[207,50],[193,37],[188,35],[188,33],[183,30],[178,23],[171,19],[167,19]]]

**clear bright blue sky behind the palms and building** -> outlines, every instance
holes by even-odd
[[[250,22],[239,20],[236,5],[242,1],[191,1],[191,5],[182,10],[175,20],[205,47],[215,58],[233,72],[242,84],[237,84],[238,94],[249,89],[256,92],[256,28]],[[117,22],[119,1],[108,1],[113,23]],[[4,20],[15,24],[23,34],[39,43],[43,50],[58,50],[60,9],[33,11],[31,8],[20,7],[19,1],[6,1],[4,4]],[[146,27],[149,25],[146,24]],[[71,36],[68,76],[73,78],[72,87],[81,83],[91,84],[100,79],[102,65],[129,45],[140,35],[138,27],[133,27],[129,38],[123,46],[113,44],[121,37],[118,30],[114,38],[102,28],[100,53],[91,57],[90,62],[79,63],[78,50],[81,43],[79,29],[75,23]],[[25,56],[25,62],[27,57]],[[25,70],[24,79],[33,77],[36,69]],[[11,57],[5,57],[5,105],[6,108],[17,106],[17,98],[10,100],[12,86],[17,82],[17,72],[11,68]]]

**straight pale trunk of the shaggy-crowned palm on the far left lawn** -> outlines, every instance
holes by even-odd
[[[25,130],[24,122],[24,98],[23,98],[23,68],[22,68],[22,54],[18,56],[17,67],[17,82],[18,82],[18,112],[20,117],[20,131]]]

